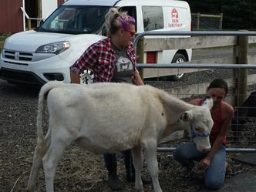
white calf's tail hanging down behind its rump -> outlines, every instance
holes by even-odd
[[[38,103],[38,109],[37,109],[37,122],[36,122],[38,144],[45,143],[45,137],[42,131],[42,111],[43,111],[44,99],[47,97],[50,90],[59,86],[65,86],[65,84],[57,81],[50,81],[49,83],[45,83],[45,85],[42,86],[42,88],[40,89],[39,103]]]

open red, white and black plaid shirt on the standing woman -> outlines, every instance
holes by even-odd
[[[136,53],[133,45],[126,47],[126,54],[133,63],[133,83],[135,83]],[[111,82],[118,56],[113,50],[110,39],[106,38],[90,45],[83,55],[69,67],[76,74],[83,73],[84,70],[93,71],[93,83]]]

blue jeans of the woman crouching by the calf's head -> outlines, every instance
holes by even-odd
[[[193,141],[180,144],[173,151],[173,158],[180,162],[184,167],[190,165],[193,160],[200,161],[207,156],[197,150],[197,146]],[[204,171],[204,184],[209,190],[217,190],[224,184],[225,179],[225,162],[226,162],[226,147],[221,145],[220,149],[211,160],[210,166]]]

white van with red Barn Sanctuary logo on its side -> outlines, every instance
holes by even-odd
[[[5,41],[0,78],[10,83],[42,85],[49,80],[69,83],[69,66],[104,36],[110,7],[128,11],[136,32],[190,31],[187,2],[170,0],[69,0],[35,30],[16,33]],[[191,49],[145,52],[147,63],[190,61]],[[177,75],[175,78],[182,77]]]

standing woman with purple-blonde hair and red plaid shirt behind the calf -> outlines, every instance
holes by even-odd
[[[136,53],[132,45],[135,31],[135,19],[126,12],[110,8],[106,14],[108,37],[90,45],[83,55],[70,66],[71,83],[80,83],[80,74],[85,70],[93,71],[93,83],[115,82],[143,85],[136,69]],[[135,178],[131,151],[123,151],[126,180]],[[108,183],[113,190],[122,190],[123,184],[116,173],[116,154],[104,154],[106,168],[109,171]]]

